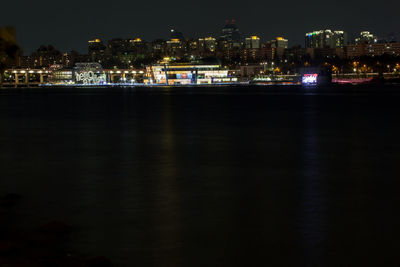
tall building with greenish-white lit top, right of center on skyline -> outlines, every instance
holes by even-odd
[[[344,31],[320,30],[306,33],[306,48],[343,48],[347,44]]]

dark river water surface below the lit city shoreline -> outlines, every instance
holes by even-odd
[[[0,194],[117,266],[399,266],[400,86],[0,91]]]

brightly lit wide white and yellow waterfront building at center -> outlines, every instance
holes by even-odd
[[[174,64],[148,67],[147,83],[155,84],[213,84],[236,82],[228,69],[220,65]]]

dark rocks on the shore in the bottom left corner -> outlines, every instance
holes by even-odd
[[[0,197],[0,207],[7,207],[2,216],[10,216],[12,206],[21,197],[9,194]],[[11,207],[11,208],[8,208]],[[0,219],[1,220],[1,219]],[[1,267],[112,267],[105,257],[87,257],[65,248],[74,228],[61,221],[50,221],[25,231],[18,226],[0,224]]]

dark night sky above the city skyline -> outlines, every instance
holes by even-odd
[[[399,0],[215,1],[104,0],[2,1],[0,25],[15,26],[25,54],[40,44],[86,52],[93,37],[168,38],[175,28],[186,37],[218,35],[234,18],[243,34],[275,36],[303,45],[305,32],[343,29],[349,37],[369,30],[379,37],[400,32]]]

